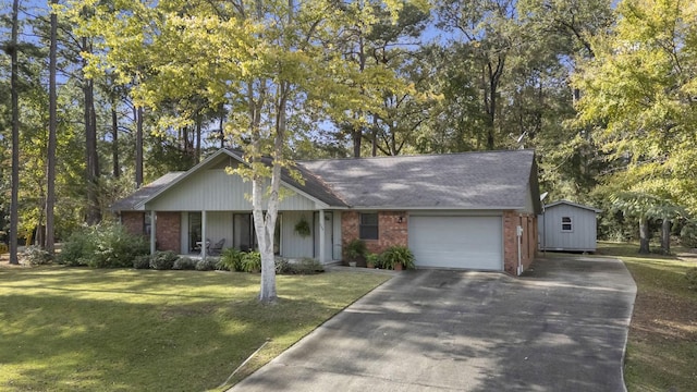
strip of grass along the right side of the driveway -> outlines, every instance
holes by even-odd
[[[697,292],[685,271],[697,255],[637,254],[637,244],[599,243],[598,254],[621,258],[637,285],[625,382],[629,391],[694,391],[697,385]]]

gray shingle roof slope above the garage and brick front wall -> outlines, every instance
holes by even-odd
[[[526,205],[534,160],[533,150],[506,150],[298,164],[353,208],[518,209]]]

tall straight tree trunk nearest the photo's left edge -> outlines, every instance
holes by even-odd
[[[20,97],[17,88],[19,62],[17,62],[17,30],[19,30],[20,1],[12,2],[12,38],[10,41],[10,94],[12,96],[12,196],[10,201],[10,264],[19,265],[17,258],[17,229],[20,225],[19,195],[20,195]]]

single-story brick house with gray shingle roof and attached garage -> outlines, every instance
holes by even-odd
[[[240,164],[240,152],[220,149],[112,210],[149,234],[152,252],[197,252],[203,238],[253,249],[252,184],[225,171]],[[279,256],[339,262],[345,244],[362,238],[372,253],[408,246],[417,268],[517,274],[535,257],[541,208],[533,150],[298,161],[295,170],[302,181],[282,175]]]

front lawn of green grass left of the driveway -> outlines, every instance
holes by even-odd
[[[389,277],[0,269],[0,390],[204,391],[232,383]]]

